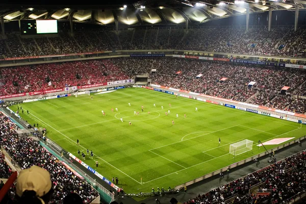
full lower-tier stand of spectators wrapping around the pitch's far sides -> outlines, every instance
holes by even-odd
[[[304,100],[297,100],[306,94],[303,70],[180,58],[130,57],[1,68],[0,95],[131,79],[149,73],[152,67],[157,69],[150,74],[153,84],[305,113],[299,107]],[[200,73],[203,76],[196,78]],[[220,81],[222,78],[227,79]],[[249,82],[256,84],[248,87]],[[287,95],[280,95],[283,86],[290,87]]]

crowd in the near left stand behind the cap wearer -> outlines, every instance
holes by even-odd
[[[37,165],[51,174],[54,188],[53,201],[62,201],[67,194],[72,192],[78,193],[85,203],[98,196],[97,191],[85,180],[74,175],[37,141],[16,134],[15,129],[19,127],[0,113],[1,145],[22,169]]]

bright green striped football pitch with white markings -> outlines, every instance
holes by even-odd
[[[306,133],[298,123],[142,88],[91,95],[93,99],[81,95],[24,103],[30,114],[21,117],[46,127],[47,136],[75,156],[78,149],[92,150],[94,158],[86,156],[85,163],[110,181],[118,177],[118,186],[130,193],[173,188],[263,152],[258,140]],[[233,158],[230,144],[244,139],[254,141],[253,149]]]

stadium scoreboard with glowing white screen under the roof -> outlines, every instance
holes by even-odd
[[[58,33],[57,20],[20,20],[21,35]]]

